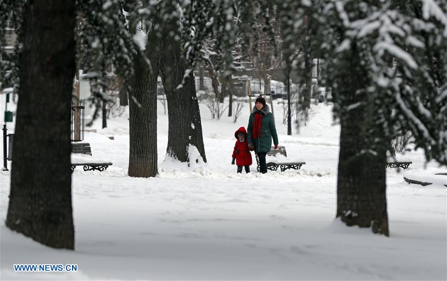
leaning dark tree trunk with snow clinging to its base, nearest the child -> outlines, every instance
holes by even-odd
[[[171,23],[169,27],[171,30],[176,30],[177,24]],[[194,72],[191,71],[183,87],[177,89],[187,69],[186,62],[178,40],[168,36],[166,32],[163,41],[160,73],[166,94],[169,120],[166,153],[180,162],[198,162],[198,159],[190,158],[194,154],[190,149],[194,149],[191,147],[194,146],[206,162]]]

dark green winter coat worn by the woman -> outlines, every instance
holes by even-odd
[[[255,152],[269,152],[273,143],[278,144],[278,134],[276,133],[275,120],[273,114],[270,112],[269,106],[266,104],[261,110],[261,136],[258,139],[253,139],[253,126],[255,120],[255,113],[258,112],[256,106],[253,107],[247,126],[247,141],[253,143]]]

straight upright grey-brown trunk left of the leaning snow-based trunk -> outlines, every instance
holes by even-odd
[[[154,177],[157,166],[157,74],[155,47],[149,57],[153,72],[134,54],[135,77],[129,103],[129,176]]]

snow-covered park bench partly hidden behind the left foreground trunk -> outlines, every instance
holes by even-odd
[[[91,155],[91,147],[88,142],[73,142],[72,154]],[[84,171],[105,171],[112,163],[104,160],[95,160],[90,156],[72,155],[72,173],[76,166],[83,166]]]

